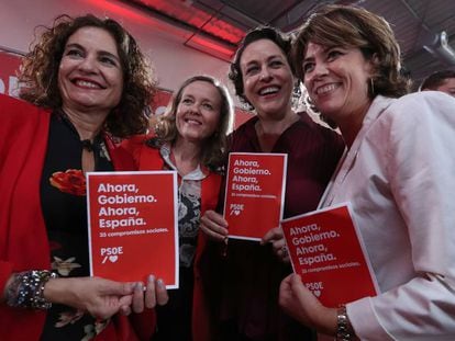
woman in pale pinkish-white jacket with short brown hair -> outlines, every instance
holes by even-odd
[[[454,99],[404,95],[390,26],[359,8],[311,15],[293,61],[347,146],[320,206],[352,203],[380,294],[328,308],[290,275],[281,307],[337,340],[455,340]]]

